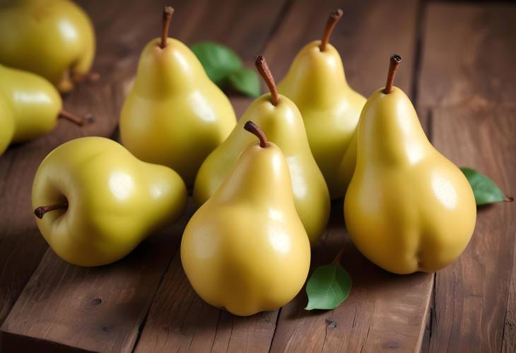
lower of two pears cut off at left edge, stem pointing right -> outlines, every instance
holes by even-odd
[[[24,142],[54,129],[62,117],[77,125],[93,118],[78,117],[63,110],[63,101],[52,83],[28,71],[0,65],[0,154],[1,146]]]

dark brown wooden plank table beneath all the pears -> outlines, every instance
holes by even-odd
[[[94,125],[57,129],[0,157],[0,350],[5,352],[514,352],[514,204],[479,211],[467,250],[445,270],[409,276],[372,265],[349,242],[333,204],[314,265],[346,245],[353,278],[334,311],[304,311],[305,291],[279,311],[239,318],[192,291],[178,246],[187,216],[115,264],[60,260],[37,230],[30,188],[46,154],[69,139],[116,137],[119,111],[143,46],[157,37],[167,1],[79,1],[98,35],[102,75],[66,96]],[[216,40],[252,67],[263,53],[280,79],[296,52],[319,38],[337,6],[332,37],[351,86],[368,96],[385,83],[387,58],[404,57],[397,86],[411,96],[433,144],[459,166],[516,194],[516,5],[434,1],[175,0],[170,34]],[[232,98],[238,115],[250,103]]]

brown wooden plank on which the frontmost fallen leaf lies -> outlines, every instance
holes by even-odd
[[[384,84],[389,55],[399,52],[404,62],[397,86],[410,95],[416,50],[416,1],[398,1],[396,6],[387,1],[329,1],[325,6],[312,1],[296,3],[266,50],[274,74],[283,76],[298,50],[319,38],[329,12],[337,6],[342,6],[344,16],[336,26],[332,44],[341,53],[351,86],[368,96]],[[307,312],[303,310],[307,298],[302,291],[281,309],[271,351],[418,350],[432,274],[397,276],[380,270],[349,241],[341,202],[334,202],[332,209],[328,231],[314,250],[312,264],[329,263],[339,249],[346,247],[342,264],[353,279],[351,294],[334,311]]]

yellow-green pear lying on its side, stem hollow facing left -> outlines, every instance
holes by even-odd
[[[50,248],[72,264],[98,266],[179,218],[187,190],[174,170],[139,161],[110,139],[83,137],[42,161],[32,198]]]

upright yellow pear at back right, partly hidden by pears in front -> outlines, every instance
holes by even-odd
[[[303,115],[310,149],[332,199],[344,196],[339,166],[365,104],[348,85],[339,52],[329,44],[341,16],[340,9],[329,16],[322,40],[305,45],[278,84],[279,93],[293,100]]]

